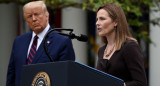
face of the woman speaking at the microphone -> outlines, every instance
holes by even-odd
[[[109,17],[109,14],[106,10],[100,9],[97,12],[97,30],[99,33],[99,36],[108,36],[114,32],[114,26],[116,26],[117,23],[113,22],[112,19]]]

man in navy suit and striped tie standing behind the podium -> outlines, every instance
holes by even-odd
[[[7,86],[20,86],[23,65],[50,62],[42,44],[45,34],[51,29],[48,23],[49,13],[46,5],[43,1],[32,1],[24,5],[23,12],[25,21],[32,31],[16,37],[14,40],[8,66]],[[34,36],[38,38],[35,42],[36,45],[32,44],[34,43]],[[34,51],[33,48],[36,50]],[[75,60],[71,40],[57,34],[56,31],[47,38],[47,48],[54,61]]]

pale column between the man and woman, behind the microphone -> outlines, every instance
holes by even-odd
[[[62,9],[62,27],[74,29],[76,34],[87,34],[87,14],[80,8],[67,7]],[[73,41],[76,61],[87,64],[87,43],[76,39]]]

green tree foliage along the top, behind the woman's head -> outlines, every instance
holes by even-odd
[[[0,3],[15,2],[17,4],[25,4],[35,0],[0,0]],[[150,42],[148,37],[149,23],[159,24],[160,18],[149,20],[149,7],[157,5],[160,9],[159,0],[43,0],[47,6],[56,10],[68,6],[81,8],[95,12],[96,9],[105,3],[116,3],[120,5],[128,20],[128,24],[133,28],[133,34],[137,38],[144,38],[146,42]],[[155,2],[155,4],[153,4]],[[158,10],[159,10],[158,9]],[[157,11],[157,10],[155,10]]]

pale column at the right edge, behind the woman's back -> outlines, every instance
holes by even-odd
[[[160,18],[160,11],[151,7],[150,20]],[[159,21],[160,24],[160,21]],[[149,86],[160,85],[160,26],[150,24],[150,38],[153,43],[149,46]]]

